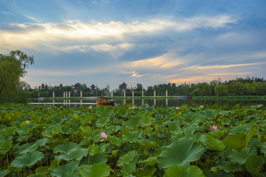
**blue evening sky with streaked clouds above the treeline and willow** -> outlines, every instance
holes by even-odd
[[[266,77],[266,0],[0,0],[0,53],[31,88]]]

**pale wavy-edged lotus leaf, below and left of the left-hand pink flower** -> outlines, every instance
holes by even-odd
[[[81,161],[84,156],[89,154],[89,149],[85,148],[72,148],[67,151],[67,153],[62,152],[59,156],[55,156],[55,159],[58,161],[64,159],[66,161],[76,159],[77,161]]]

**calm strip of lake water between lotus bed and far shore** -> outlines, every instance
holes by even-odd
[[[188,106],[199,107],[200,105],[214,105],[217,106],[235,106],[240,103],[240,106],[252,106],[263,104],[266,106],[266,99],[179,99],[179,98],[134,98],[134,99],[121,99],[116,98],[113,99],[115,101],[115,105],[122,106],[126,103],[133,103],[135,107],[141,105],[149,105],[155,107],[180,107],[183,104],[187,104]],[[32,105],[53,105],[53,106],[70,106],[70,107],[80,107],[80,106],[89,106],[96,105],[96,99],[38,99],[31,100],[30,104]]]

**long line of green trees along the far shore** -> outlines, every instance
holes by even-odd
[[[83,91],[83,96],[91,96],[89,94],[89,88],[86,84],[80,84],[80,90]],[[121,89],[118,86],[118,89],[113,90],[114,96],[123,96],[121,95]],[[165,96],[166,90],[168,91],[168,96],[177,96],[177,95],[193,95],[193,96],[232,96],[232,95],[266,95],[266,80],[264,78],[250,78],[247,76],[245,79],[236,78],[234,80],[229,80],[222,82],[220,78],[212,80],[210,83],[197,83],[197,84],[187,84],[181,83],[177,86],[175,83],[168,84],[158,84],[154,86],[148,86],[145,89],[142,84],[137,84],[136,87],[128,87],[126,89],[126,96],[132,96],[132,91],[134,90],[134,96],[142,96],[142,91],[144,91],[145,96],[153,96],[154,90],[156,96]],[[30,89],[30,91],[39,91],[40,97],[51,97],[53,91],[55,96],[62,96],[63,91],[71,91],[71,96],[73,96],[73,85],[63,86],[51,86],[47,84],[42,84],[35,89]],[[86,92],[88,94],[86,94]],[[105,88],[96,88],[95,93],[98,96],[110,95],[111,93],[109,85]],[[36,94],[33,94],[36,95]],[[34,97],[34,96],[33,96]]]

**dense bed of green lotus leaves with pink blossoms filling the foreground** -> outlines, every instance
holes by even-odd
[[[2,177],[265,177],[266,109],[0,105]]]

